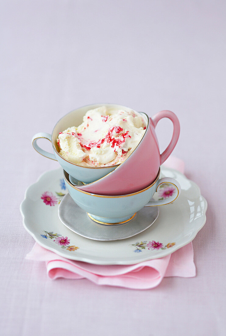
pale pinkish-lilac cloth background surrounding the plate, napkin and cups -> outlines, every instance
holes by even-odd
[[[2,335],[225,333],[225,1],[10,1],[1,12]],[[58,164],[31,138],[76,107],[115,102],[181,123],[173,152],[208,201],[197,276],[145,291],[52,281],[25,260],[27,186]],[[157,134],[163,150],[170,121]],[[43,141],[44,142],[44,141]],[[50,146],[47,146],[50,148]]]

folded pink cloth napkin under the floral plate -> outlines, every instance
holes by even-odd
[[[165,166],[184,172],[184,162],[169,157]],[[164,277],[191,278],[196,275],[192,243],[159,259],[135,265],[94,265],[69,260],[35,243],[26,259],[45,261],[51,279],[89,279],[97,285],[119,286],[131,289],[150,289],[158,286]]]

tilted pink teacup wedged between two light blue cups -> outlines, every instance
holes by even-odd
[[[147,122],[147,130],[132,154],[115,170],[95,182],[80,185],[74,179],[74,185],[78,189],[98,195],[127,195],[143,190],[155,180],[160,165],[169,157],[177,143],[180,124],[171,111],[161,111],[153,119],[145,113],[140,114]],[[155,127],[162,118],[169,118],[173,122],[174,130],[170,144],[160,154]],[[73,181],[73,178],[70,180]]]

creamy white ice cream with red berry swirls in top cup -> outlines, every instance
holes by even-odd
[[[59,154],[88,167],[120,164],[134,151],[145,129],[140,114],[102,106],[89,110],[81,125],[59,133]]]

